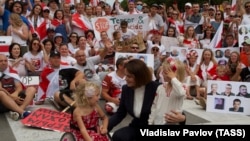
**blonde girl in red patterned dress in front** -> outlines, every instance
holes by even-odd
[[[92,82],[76,87],[71,132],[77,141],[108,141],[108,117],[98,105],[100,87]],[[100,125],[99,119],[102,124]]]

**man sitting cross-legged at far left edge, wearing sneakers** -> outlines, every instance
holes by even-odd
[[[17,72],[9,67],[7,57],[0,54],[0,112],[10,111],[13,120],[25,118],[30,114],[25,111],[34,98],[36,89],[22,84]]]

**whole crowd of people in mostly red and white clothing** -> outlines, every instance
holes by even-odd
[[[30,114],[26,108],[33,100],[42,106],[50,98],[58,109],[74,107],[72,133],[79,140],[108,140],[102,134],[131,115],[130,125],[112,136],[114,141],[130,141],[139,126],[185,124],[184,99],[196,99],[205,107],[208,80],[250,80],[250,39],[239,43],[238,35],[248,32],[239,27],[250,24],[250,2],[237,0],[235,6],[229,1],[220,6],[187,2],[180,10],[177,3],[148,5],[128,0],[125,11],[118,0],[113,5],[104,0],[62,1],[0,2],[0,35],[12,36],[8,55],[0,54],[0,112],[10,111],[14,120]],[[117,52],[124,52],[117,43],[139,35],[129,29],[128,21],[121,21],[112,37],[107,31],[100,32],[100,39],[95,35],[93,18],[132,14],[145,14],[148,28],[143,45],[134,41],[126,53],[153,55],[153,68],[143,59],[115,60]],[[210,43],[221,24],[220,47],[238,51],[217,62],[221,53],[214,52]],[[188,49],[182,56],[185,61],[171,57],[163,37],[178,40],[175,46]],[[200,60],[195,49],[202,49]],[[38,89],[25,87],[20,81],[24,76],[39,76]],[[99,97],[105,100],[104,111]],[[97,117],[103,120],[100,127]]]

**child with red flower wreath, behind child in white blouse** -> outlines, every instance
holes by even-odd
[[[190,87],[195,86],[196,98],[200,98],[200,85],[201,80],[197,75],[199,70],[199,65],[197,64],[198,53],[195,50],[189,51],[186,55],[187,64],[186,72],[187,76],[185,77],[185,83],[187,84],[187,99],[192,100],[193,97],[190,95]]]

